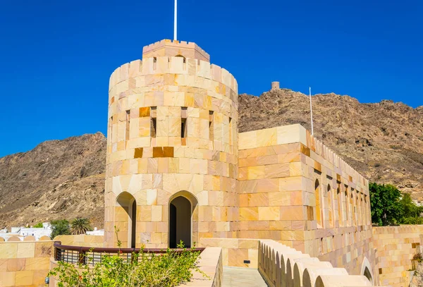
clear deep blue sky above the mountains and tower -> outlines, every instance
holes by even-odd
[[[423,105],[423,2],[179,0],[178,38],[259,95],[273,80]],[[106,133],[109,75],[173,37],[173,0],[3,1],[0,157]]]

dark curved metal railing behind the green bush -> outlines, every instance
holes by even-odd
[[[205,248],[187,248],[171,249],[173,252],[202,252]],[[154,254],[164,254],[167,252],[163,248],[91,248],[73,245],[61,245],[60,241],[54,243],[54,259],[56,261],[71,264],[91,264],[102,262],[106,256],[118,255],[123,257],[125,262],[133,262],[135,257],[133,254],[140,252],[152,256]]]

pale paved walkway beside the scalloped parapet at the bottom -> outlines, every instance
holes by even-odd
[[[223,267],[223,287],[268,287],[257,269]]]

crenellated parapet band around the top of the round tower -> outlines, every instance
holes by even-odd
[[[238,94],[235,77],[225,68],[198,59],[184,59],[178,56],[158,56],[125,63],[116,68],[109,80],[109,90],[131,78],[154,74],[194,75],[226,85]]]

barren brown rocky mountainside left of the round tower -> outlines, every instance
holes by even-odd
[[[0,158],[0,228],[77,216],[102,227],[105,165],[102,133]]]

